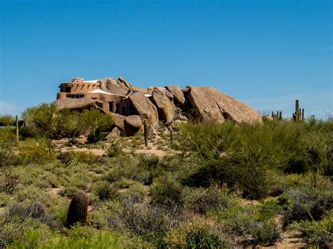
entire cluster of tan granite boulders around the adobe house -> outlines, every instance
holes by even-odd
[[[112,131],[112,136],[134,135],[142,129],[145,120],[150,133],[156,133],[159,121],[176,127],[180,123],[186,123],[188,119],[198,119],[202,122],[231,120],[237,123],[255,123],[269,119],[262,118],[255,109],[212,87],[187,86],[181,89],[179,86],[169,85],[145,89],[132,86],[122,77],[117,80],[100,79],[97,83],[100,83],[101,90],[120,95],[117,97],[124,102],[117,102],[117,113],[121,104],[120,108],[127,109],[120,113],[129,115],[109,113],[115,121],[110,128],[117,128]],[[92,107],[103,111],[104,107],[102,101],[89,97],[80,99],[65,97],[56,100],[55,106],[58,111],[65,108],[81,110]]]

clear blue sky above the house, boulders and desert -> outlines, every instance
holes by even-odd
[[[261,112],[332,113],[332,1],[0,0],[0,114],[58,84],[213,86]]]

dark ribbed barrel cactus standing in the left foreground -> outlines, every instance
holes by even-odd
[[[75,223],[86,224],[86,216],[88,213],[89,197],[86,192],[80,190],[77,191],[72,201],[70,202],[70,208],[67,214],[67,226],[70,227]]]

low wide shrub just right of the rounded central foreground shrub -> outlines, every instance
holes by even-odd
[[[228,208],[232,196],[226,186],[212,185],[204,188],[190,188],[183,193],[184,206],[188,210],[204,214],[209,210],[219,210],[221,207]]]

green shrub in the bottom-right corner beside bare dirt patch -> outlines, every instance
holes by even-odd
[[[330,210],[322,220],[305,220],[292,224],[292,228],[301,231],[303,242],[315,248],[329,248],[333,242],[333,211]]]

